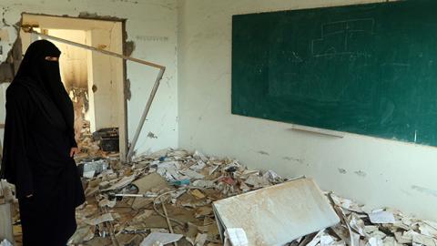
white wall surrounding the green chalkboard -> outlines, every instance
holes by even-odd
[[[230,113],[232,15],[364,2],[371,1],[178,1],[179,146],[286,177],[314,177],[322,189],[370,207],[437,220],[437,149],[352,134],[320,137]]]

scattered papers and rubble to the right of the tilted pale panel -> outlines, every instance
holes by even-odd
[[[364,205],[327,193],[341,223],[292,241],[289,245],[425,245],[437,246],[437,223],[419,220],[399,210],[366,210]]]

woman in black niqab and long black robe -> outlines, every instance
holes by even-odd
[[[62,84],[59,49],[31,44],[6,90],[0,177],[15,184],[23,245],[66,245],[76,231],[75,210],[85,201],[73,159],[73,104]]]

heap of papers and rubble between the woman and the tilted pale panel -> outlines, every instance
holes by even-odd
[[[220,245],[211,202],[284,181],[272,171],[186,150],[158,151],[132,166],[107,162],[108,169],[86,179],[71,244],[139,245],[150,232],[170,232],[170,220],[171,231],[184,235],[178,245]]]

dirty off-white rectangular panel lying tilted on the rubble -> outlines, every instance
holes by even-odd
[[[239,228],[249,245],[284,245],[340,222],[316,182],[306,178],[215,201],[213,208],[221,239]]]

